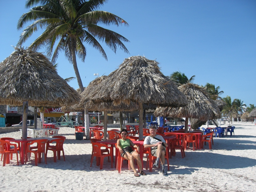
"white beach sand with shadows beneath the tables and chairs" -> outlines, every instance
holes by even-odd
[[[256,191],[256,126],[237,123],[235,135],[214,138],[212,150],[180,151],[169,160],[167,177],[160,169],[144,170],[146,176],[134,177],[128,165],[118,174],[105,158],[103,170],[94,160],[90,167],[91,143],[75,140],[74,129],[60,128],[67,139],[65,159],[53,162],[52,151],[47,163],[35,166],[34,158],[25,165],[17,165],[15,158],[2,167],[0,162],[0,191]],[[213,126],[212,126],[213,127]],[[0,137],[20,138],[20,132],[0,134]],[[146,167],[146,158],[144,158]]]

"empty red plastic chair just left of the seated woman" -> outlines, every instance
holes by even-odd
[[[102,154],[101,153],[101,147],[106,147],[106,148],[110,149],[110,153],[109,154]],[[92,148],[93,148],[93,154],[92,154],[92,158],[91,158],[91,165],[92,165],[93,157],[99,157],[100,158],[100,169],[103,169],[103,160],[104,160],[105,157],[111,157],[112,156],[111,155],[112,154],[112,152],[111,152],[112,148],[108,147],[108,145],[106,145],[106,144],[93,143],[93,142],[92,142]],[[111,168],[113,168],[112,159],[111,159]]]

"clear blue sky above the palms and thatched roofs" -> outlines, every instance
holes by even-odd
[[[22,30],[18,19],[25,9],[25,0],[1,0],[0,61],[13,51]],[[83,85],[99,76],[108,75],[124,58],[144,55],[160,63],[164,75],[181,71],[194,83],[220,86],[221,97],[241,99],[246,105],[256,105],[256,1],[254,0],[197,0],[152,1],[109,0],[100,10],[111,12],[128,22],[106,26],[130,42],[125,43],[130,54],[118,50],[116,54],[101,44],[108,61],[86,45],[85,62],[77,59]],[[40,35],[35,33],[24,46]],[[41,50],[44,52],[44,50]],[[62,78],[75,77],[73,66],[60,54],[58,74]],[[77,80],[69,83],[77,89]]]

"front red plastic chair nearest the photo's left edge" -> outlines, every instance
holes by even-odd
[[[14,146],[14,148],[11,149],[11,146]],[[4,156],[3,167],[5,166],[6,162],[9,163],[10,159],[7,159],[9,158],[9,155],[14,153],[16,153],[17,156],[17,165],[19,165],[17,144],[11,144],[9,141],[0,140],[0,153],[2,154],[2,157]]]

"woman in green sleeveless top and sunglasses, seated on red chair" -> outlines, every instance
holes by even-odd
[[[140,148],[137,145],[135,145],[130,139],[126,138],[127,134],[128,134],[128,132],[126,129],[121,130],[122,138],[117,140],[116,147],[119,149],[121,156],[123,158],[130,160],[130,165],[131,165],[132,170],[134,171],[135,177],[139,177],[140,175],[138,174],[138,172],[135,169],[134,159],[137,160],[137,164],[141,170],[140,174],[146,175],[144,173],[144,171],[142,170],[141,158],[140,158],[140,155],[138,154],[138,152],[140,152]],[[138,152],[133,151],[131,146],[134,148],[137,148]]]

